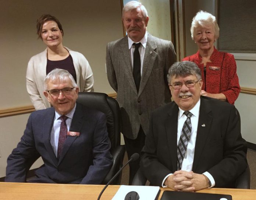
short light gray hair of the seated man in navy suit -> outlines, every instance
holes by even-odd
[[[47,84],[49,83],[50,80],[60,80],[60,81],[64,81],[64,80],[70,80],[72,83],[73,87],[77,87],[77,84],[75,83],[74,77],[65,69],[54,69],[52,70],[49,74],[47,74],[47,76],[45,77],[44,82],[44,89],[47,90]]]

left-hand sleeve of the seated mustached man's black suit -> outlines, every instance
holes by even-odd
[[[157,116],[156,116],[157,118]],[[173,173],[164,164],[162,164],[157,155],[158,131],[157,120],[152,115],[150,120],[149,132],[146,135],[145,146],[141,151],[142,172],[152,185],[162,186],[164,178]]]

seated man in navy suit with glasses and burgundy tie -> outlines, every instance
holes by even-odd
[[[29,182],[100,184],[113,158],[106,116],[76,103],[78,86],[64,69],[45,77],[44,95],[53,107],[33,112],[24,135],[7,159],[7,182],[26,182],[31,165],[44,164]]]

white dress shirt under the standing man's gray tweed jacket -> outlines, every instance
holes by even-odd
[[[132,39],[129,38],[129,36],[128,36],[128,47],[129,47],[129,53],[130,53],[132,68],[133,68],[133,54],[134,54],[134,50],[135,50],[135,46],[132,45],[132,44],[133,43],[139,43],[139,42],[141,43],[141,46],[139,47],[139,54],[141,56],[141,76],[142,76],[143,60],[144,60],[145,49],[146,49],[146,44],[147,44],[147,32],[145,33],[144,37],[138,42],[132,41]]]

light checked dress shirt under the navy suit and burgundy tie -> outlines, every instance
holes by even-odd
[[[71,126],[71,122],[75,113],[75,108],[76,108],[77,104],[75,104],[74,108],[71,110],[70,113],[66,114],[65,116],[67,116],[67,120],[66,120],[66,124],[67,124],[67,128],[68,131],[70,130],[70,126]],[[57,157],[57,150],[58,150],[58,138],[60,135],[60,124],[61,124],[61,120],[60,120],[60,116],[61,114],[59,114],[58,112],[56,112],[55,110],[55,117],[53,120],[53,127],[51,128],[51,146],[53,147],[53,151],[54,154]]]

